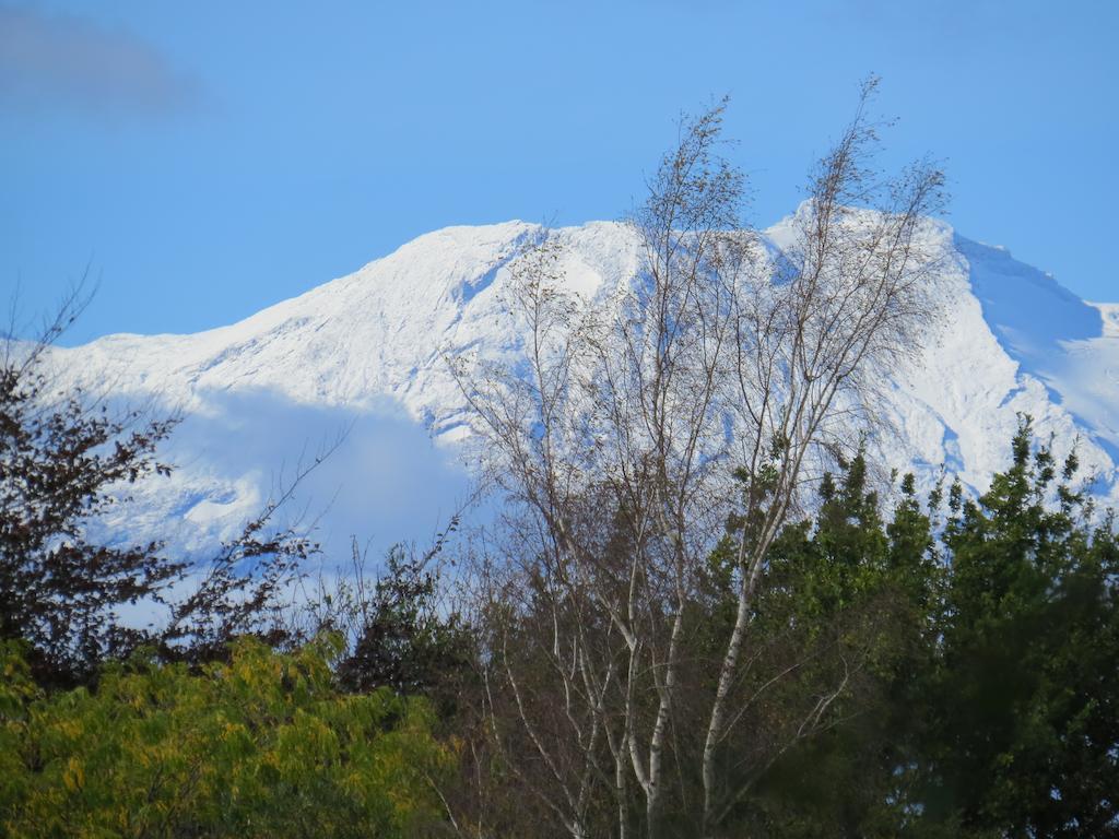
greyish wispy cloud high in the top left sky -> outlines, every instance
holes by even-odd
[[[154,46],[84,18],[0,6],[0,105],[98,119],[159,117],[198,101]]]

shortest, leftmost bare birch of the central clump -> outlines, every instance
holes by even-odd
[[[509,308],[526,336],[527,369],[457,364],[452,370],[473,408],[485,462],[528,513],[507,521],[505,554],[523,560],[489,565],[477,578],[491,745],[566,833],[587,837],[602,776],[603,692],[614,669],[589,641],[601,641],[610,659],[613,639],[609,623],[605,637],[592,629],[592,568],[573,556],[568,536],[576,530],[572,517],[586,511],[581,499],[595,462],[577,454],[587,425],[573,407],[591,329],[579,301],[563,291],[561,257],[558,243],[545,236],[513,266]]]

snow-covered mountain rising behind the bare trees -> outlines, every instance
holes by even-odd
[[[444,353],[516,355],[502,318],[509,263],[539,228],[452,227],[411,242],[234,326],[188,336],[110,336],[57,350],[63,369],[114,397],[185,416],[145,486],[105,522],[129,538],[196,550],[228,536],[275,486],[340,431],[339,450],[302,488],[320,532],[382,543],[424,538],[464,497],[457,441],[464,405]],[[553,232],[565,274],[604,299],[638,264],[633,234],[592,223]],[[780,225],[770,232],[780,239]],[[893,373],[900,431],[890,464],[930,478],[946,464],[975,488],[1006,465],[1018,413],[1059,446],[1079,440],[1098,491],[1119,502],[1119,303],[1088,303],[1009,253],[929,223],[930,280],[942,318],[918,362]]]

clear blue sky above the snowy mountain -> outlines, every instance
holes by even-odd
[[[749,218],[883,77],[883,163],[949,220],[1119,300],[1119,3],[0,0],[0,293],[90,266],[67,337],[222,326],[445,225],[617,218],[730,94]]]

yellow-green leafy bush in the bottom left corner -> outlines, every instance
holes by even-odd
[[[0,812],[12,837],[397,837],[436,814],[451,754],[422,700],[340,694],[326,637],[191,671],[134,656],[41,695],[0,648]]]

